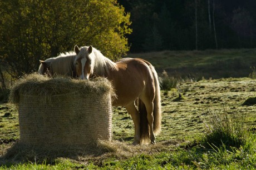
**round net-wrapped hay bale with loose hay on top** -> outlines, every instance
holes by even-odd
[[[81,81],[29,74],[11,89],[19,112],[20,142],[33,146],[80,146],[111,140],[114,96],[106,78]]]

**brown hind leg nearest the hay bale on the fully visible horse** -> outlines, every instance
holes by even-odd
[[[135,107],[135,103],[125,106],[127,111],[131,114],[132,121],[134,121],[134,142],[132,144],[140,144],[140,115]]]

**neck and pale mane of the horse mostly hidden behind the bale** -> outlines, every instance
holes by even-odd
[[[46,59],[45,63],[51,64],[51,73],[65,76],[74,76],[73,61],[75,61],[76,53],[74,51],[60,53],[57,57]]]

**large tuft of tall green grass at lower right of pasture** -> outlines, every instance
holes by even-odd
[[[249,127],[245,122],[246,114],[228,113],[224,107],[223,112],[208,109],[209,119],[205,121],[206,135],[203,138],[203,146],[206,148],[220,148],[225,146],[227,149],[247,146],[249,137]]]

